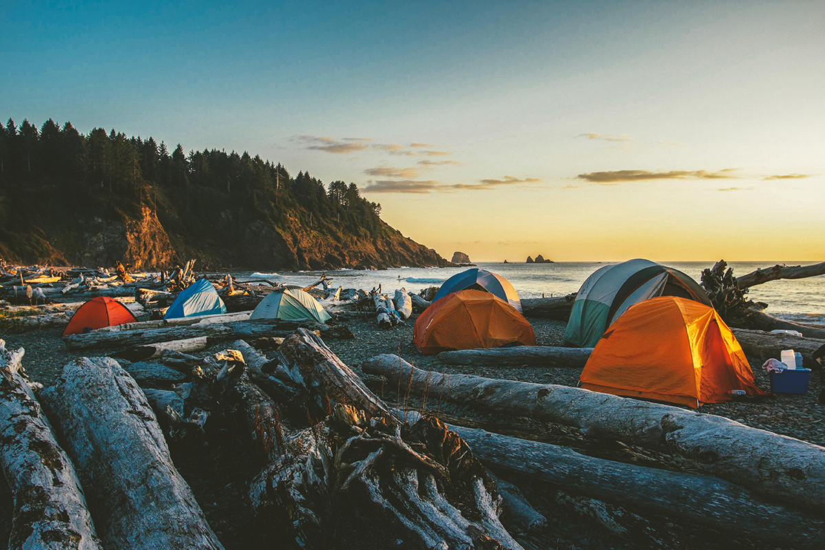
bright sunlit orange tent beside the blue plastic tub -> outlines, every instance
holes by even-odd
[[[731,390],[763,395],[742,346],[714,308],[674,296],[631,306],[596,344],[581,387],[699,407]]]

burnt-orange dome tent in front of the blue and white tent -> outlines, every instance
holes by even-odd
[[[483,290],[438,299],[415,322],[413,343],[423,354],[518,344],[535,346],[530,323],[509,303]]]

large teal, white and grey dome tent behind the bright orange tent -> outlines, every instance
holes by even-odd
[[[705,290],[680,270],[635,259],[594,271],[573,302],[564,343],[594,347],[607,327],[634,303],[657,296],[677,296],[710,306]]]

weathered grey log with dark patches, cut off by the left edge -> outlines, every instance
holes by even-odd
[[[23,349],[0,340],[0,462],[12,491],[8,548],[101,548],[73,464],[21,375]]]

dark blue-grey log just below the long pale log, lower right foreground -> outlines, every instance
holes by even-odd
[[[794,548],[821,548],[825,520],[715,477],[644,468],[572,449],[450,425],[483,462],[600,500]],[[686,505],[690,503],[690,505]]]

